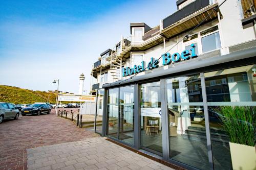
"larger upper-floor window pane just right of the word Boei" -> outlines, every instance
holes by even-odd
[[[201,41],[203,53],[221,48],[221,40],[218,26],[205,30],[200,34],[202,37]]]

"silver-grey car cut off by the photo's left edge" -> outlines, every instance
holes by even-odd
[[[18,119],[19,110],[11,103],[0,102],[0,124],[5,119]]]

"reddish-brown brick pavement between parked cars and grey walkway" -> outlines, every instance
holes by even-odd
[[[20,116],[0,124],[0,169],[27,169],[26,149],[98,136],[55,114]]]

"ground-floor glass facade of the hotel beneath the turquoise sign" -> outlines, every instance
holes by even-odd
[[[139,84],[138,89],[134,85],[108,89],[106,135],[163,156],[165,160],[181,162],[187,168],[210,169],[214,166],[214,169],[232,169],[229,142],[233,136],[223,121],[229,115],[224,115],[222,109],[255,108],[255,69],[256,65],[247,65],[163,78],[161,83]],[[165,96],[161,96],[163,93]],[[97,112],[101,108],[100,98],[99,93]],[[161,104],[163,98],[167,105]],[[134,108],[137,100],[140,103]],[[244,116],[252,117],[252,120],[236,120],[251,125],[245,128],[255,129],[252,114],[253,111]],[[237,127],[231,129],[239,130]],[[136,136],[135,131],[138,131]],[[249,133],[255,142],[254,131]],[[162,134],[167,134],[167,137]]]

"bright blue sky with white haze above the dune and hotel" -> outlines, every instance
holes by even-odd
[[[90,90],[99,54],[130,36],[130,22],[150,27],[176,1],[0,1],[0,84],[32,90]],[[94,80],[92,84],[94,84]]]

